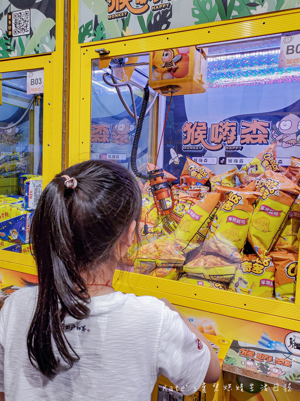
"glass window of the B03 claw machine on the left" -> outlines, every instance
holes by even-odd
[[[24,254],[30,254],[30,223],[42,192],[43,144],[42,86],[31,93],[27,75],[2,73],[0,81],[0,249]]]

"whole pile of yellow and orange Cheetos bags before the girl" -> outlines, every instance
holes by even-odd
[[[276,142],[240,171],[234,167],[218,175],[187,157],[180,183],[172,187],[174,210],[168,216],[155,207],[149,212],[148,234],[139,250],[132,247],[128,266],[154,277],[293,302],[300,159],[279,168],[275,157]],[[143,218],[154,205],[147,194]],[[143,219],[140,227],[143,234]]]

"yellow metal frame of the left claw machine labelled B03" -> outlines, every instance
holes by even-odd
[[[56,50],[50,54],[0,61],[0,72],[44,69],[43,186],[61,171],[63,117],[64,4],[57,1]],[[32,256],[0,252],[0,268],[37,274]]]

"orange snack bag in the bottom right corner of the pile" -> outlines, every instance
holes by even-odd
[[[298,254],[271,252],[270,256],[275,266],[275,297],[295,302]]]

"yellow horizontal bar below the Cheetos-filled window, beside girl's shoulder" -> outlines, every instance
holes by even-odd
[[[116,291],[167,298],[174,305],[224,316],[300,331],[300,311],[296,305],[226,291],[199,288],[178,281],[116,271]]]

